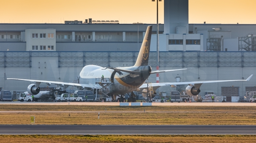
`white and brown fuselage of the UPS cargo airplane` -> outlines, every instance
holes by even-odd
[[[80,72],[80,83],[95,84],[96,78],[109,78],[113,81],[108,86],[110,94],[126,94],[135,91],[139,88],[149,77],[151,73],[150,66],[139,67],[123,67],[119,69],[126,69],[131,71],[139,71],[141,74],[131,74],[127,72],[115,71],[109,68],[103,68],[96,65],[87,65]],[[100,86],[99,86],[100,87]]]

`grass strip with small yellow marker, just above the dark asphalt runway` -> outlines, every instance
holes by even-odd
[[[69,116],[70,115],[70,116]],[[256,125],[256,113],[0,113],[0,124]]]

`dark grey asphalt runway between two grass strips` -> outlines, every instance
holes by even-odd
[[[256,125],[0,125],[0,134],[252,134]]]

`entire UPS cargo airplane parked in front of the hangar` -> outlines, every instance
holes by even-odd
[[[20,80],[20,81],[29,81],[34,82],[30,84],[27,88],[27,91],[31,95],[36,95],[40,92],[40,83],[46,83],[47,85],[57,84],[62,87],[62,90],[65,91],[68,86],[75,86],[79,90],[83,90],[84,88],[91,89],[100,89],[101,86],[95,83],[97,78],[100,78],[104,75],[104,78],[108,78],[110,82],[106,87],[108,95],[120,95],[126,93],[132,93],[138,88],[147,88],[147,84],[145,81],[151,74],[162,73],[162,72],[170,72],[184,69],[174,69],[174,70],[160,70],[160,71],[151,71],[151,67],[148,65],[149,59],[149,51],[150,51],[150,41],[151,41],[151,32],[152,26],[147,27],[147,31],[145,33],[144,40],[142,42],[137,61],[132,67],[122,67],[122,68],[114,68],[114,67],[100,67],[96,65],[87,65],[80,72],[80,83],[65,83],[65,82],[54,82],[54,81],[43,81],[43,80],[30,80],[30,79],[15,79],[15,78],[7,78],[6,74],[4,75],[5,80]],[[174,82],[174,83],[152,83],[152,86],[165,86],[170,85],[171,87],[175,87],[180,84],[188,84],[186,87],[186,93],[188,95],[197,95],[200,92],[200,86],[203,83],[217,83],[217,82],[232,82],[232,81],[249,81],[250,77],[246,80],[220,80],[220,81],[195,81],[195,82]],[[89,84],[83,84],[89,83]],[[136,96],[132,94],[133,96]],[[114,99],[114,98],[113,98]]]

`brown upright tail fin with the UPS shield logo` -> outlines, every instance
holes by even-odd
[[[152,25],[147,26],[147,31],[145,33],[142,45],[140,47],[140,51],[138,54],[137,61],[134,66],[147,66],[148,65],[148,57],[150,51],[150,41],[151,41],[151,34],[152,34]]]

